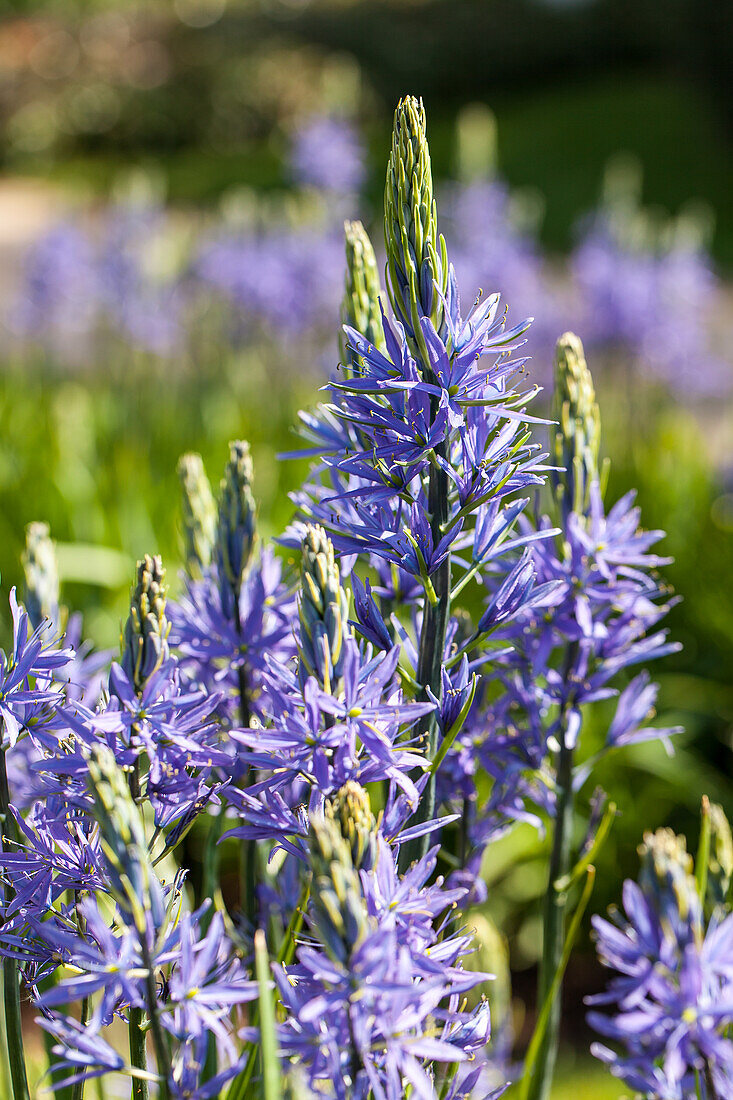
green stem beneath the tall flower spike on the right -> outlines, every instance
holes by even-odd
[[[570,663],[570,662],[569,662]],[[570,870],[570,844],[572,840],[573,796],[572,796],[572,749],[566,745],[565,722],[561,723],[562,743],[557,763],[557,811],[555,833],[550,855],[547,893],[544,909],[543,957],[539,965],[537,1003],[545,1004],[550,994],[553,979],[562,958],[565,943],[565,913],[568,894],[558,890],[557,882]],[[545,1035],[537,1054],[537,1070],[529,1089],[529,1100],[548,1100],[557,1060],[560,1032],[560,1007],[562,986],[555,990]]]

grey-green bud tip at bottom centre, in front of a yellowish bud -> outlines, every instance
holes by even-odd
[[[313,924],[330,957],[346,963],[369,926],[351,848],[330,816],[310,820],[308,851]]]

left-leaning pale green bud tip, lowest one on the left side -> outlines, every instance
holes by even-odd
[[[160,927],[163,895],[147,855],[142,815],[107,745],[91,746],[87,785],[116,902],[139,931],[144,931],[147,913]]]

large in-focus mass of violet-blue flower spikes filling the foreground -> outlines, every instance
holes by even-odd
[[[295,554],[259,544],[243,440],[217,494],[199,455],[180,459],[183,591],[168,602],[160,558],[139,562],[118,661],[89,651],[78,620],[59,641],[53,542],[29,529],[28,609],[11,596],[0,656],[0,953],[19,1097],[21,978],[75,1100],[112,1074],[134,1100],[149,1084],[163,1100],[260,1086],[266,1100],[286,1087],[497,1097],[491,976],[471,969],[467,914],[483,848],[522,817],[554,836],[523,1086],[548,1094],[562,917],[592,855],[572,850],[593,762],[576,750],[584,710],[674,648],[657,629],[660,532],[639,529],[631,496],[604,507],[600,413],[571,333],[549,448],[534,440],[546,421],[528,411],[529,321],[510,324],[499,294],[461,307],[412,97],[395,113],[384,226],[384,294],[366,232],[346,227],[342,361],[302,415],[314,462],[281,540],[299,575]],[[533,521],[546,481],[553,517]],[[666,739],[648,725],[654,700],[645,672],[625,684],[606,748]],[[718,944],[733,864],[720,823],[710,851]],[[685,958],[701,920],[685,925]],[[723,1080],[723,1054],[705,1057]]]

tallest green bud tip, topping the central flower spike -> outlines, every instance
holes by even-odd
[[[427,365],[419,319],[429,317],[438,332],[442,329],[440,295],[448,288],[448,256],[438,234],[425,109],[414,96],[401,99],[394,114],[384,190],[384,243],[392,307]]]

